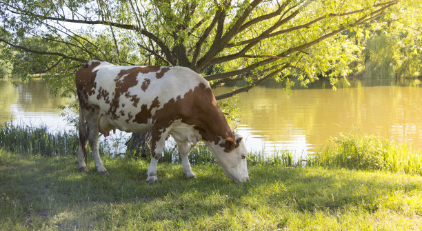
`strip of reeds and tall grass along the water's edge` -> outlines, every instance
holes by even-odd
[[[110,136],[111,137],[111,136]],[[119,152],[126,139],[100,139],[101,156],[135,158],[130,152]],[[75,130],[50,132],[46,126],[30,127],[6,123],[0,125],[0,149],[12,153],[26,153],[42,157],[73,155],[79,139]],[[88,145],[88,152],[90,151]],[[314,155],[294,157],[288,150],[271,154],[248,153],[248,165],[272,165],[277,167],[322,166],[326,168],[348,168],[352,170],[383,170],[394,173],[419,174],[422,176],[422,153],[407,145],[390,139],[367,134],[339,134],[325,142]],[[150,155],[144,158],[150,160]],[[210,150],[198,143],[190,150],[192,165],[216,163]],[[160,162],[181,163],[175,143],[165,145]]]

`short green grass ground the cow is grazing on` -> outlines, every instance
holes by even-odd
[[[422,177],[319,167],[251,166],[232,183],[215,163],[103,157],[110,176],[72,156],[0,152],[2,230],[421,230]]]

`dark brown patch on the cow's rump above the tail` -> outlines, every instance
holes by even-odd
[[[85,110],[94,110],[94,107],[88,103],[88,97],[94,94],[95,88],[97,88],[95,78],[97,77],[98,70],[94,72],[92,72],[92,70],[94,70],[94,68],[100,64],[101,63],[98,61],[93,61],[91,65],[86,63],[86,65],[79,69],[76,73],[75,83],[77,87],[79,104]]]

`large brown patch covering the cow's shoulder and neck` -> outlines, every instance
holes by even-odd
[[[183,97],[171,99],[152,116],[152,143],[159,140],[160,129],[168,128],[171,123],[181,119],[183,123],[194,125],[202,139],[216,145],[228,137],[234,139],[232,130],[225,120],[214,94],[205,84],[186,92]],[[154,149],[153,149],[154,150]]]

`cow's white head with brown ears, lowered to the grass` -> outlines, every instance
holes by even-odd
[[[233,138],[221,140],[218,145],[211,143],[210,148],[214,158],[220,163],[225,175],[234,182],[248,182],[248,166],[246,155],[248,154],[245,141],[241,135],[234,134]]]

